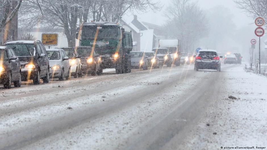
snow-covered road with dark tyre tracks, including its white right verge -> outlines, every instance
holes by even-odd
[[[0,87],[0,149],[267,147],[266,77],[193,67]]]

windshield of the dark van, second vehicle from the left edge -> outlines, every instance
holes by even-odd
[[[11,47],[17,56],[34,56],[35,47],[33,44],[7,44]]]

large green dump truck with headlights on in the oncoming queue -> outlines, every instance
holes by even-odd
[[[90,46],[100,55],[103,69],[115,68],[117,74],[131,72],[132,31],[125,31],[116,22],[86,22],[76,39],[80,46]]]

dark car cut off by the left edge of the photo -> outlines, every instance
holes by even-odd
[[[15,87],[21,85],[20,62],[10,47],[0,46],[0,84],[11,88],[11,83]]]

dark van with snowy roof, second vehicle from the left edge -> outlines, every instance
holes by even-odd
[[[7,41],[20,60],[21,80],[33,80],[34,84],[49,82],[49,60],[41,41]]]

